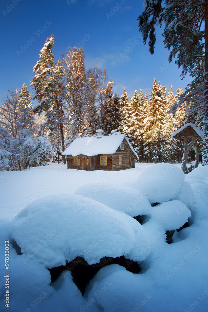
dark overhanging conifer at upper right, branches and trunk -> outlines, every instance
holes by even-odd
[[[164,3],[165,7],[162,7]],[[203,165],[208,164],[208,1],[162,0],[144,1],[144,12],[138,17],[139,30],[146,43],[149,35],[149,51],[154,53],[155,24],[162,27],[165,47],[170,50],[169,61],[176,57],[181,75],[187,72],[195,77],[195,69],[205,60],[204,68],[204,144]],[[204,30],[202,29],[204,27]]]

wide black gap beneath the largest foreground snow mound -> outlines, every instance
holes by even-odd
[[[77,288],[81,291],[82,295],[85,292],[86,285],[94,277],[94,275],[104,266],[110,264],[119,264],[119,266],[125,267],[129,272],[138,274],[141,269],[137,262],[126,259],[124,256],[112,258],[104,257],[100,259],[99,263],[89,265],[84,258],[76,257],[75,260],[67,262],[65,266],[58,266],[56,268],[48,269],[51,274],[51,283],[53,283],[60,274],[65,271],[71,271],[73,282]]]

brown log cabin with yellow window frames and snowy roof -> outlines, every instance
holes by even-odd
[[[78,170],[123,170],[135,168],[137,153],[125,134],[98,135],[77,138],[62,153],[66,155],[67,168]]]

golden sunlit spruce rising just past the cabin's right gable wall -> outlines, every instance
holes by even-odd
[[[129,101],[129,139],[133,149],[142,160],[142,134],[143,134],[143,103],[144,96],[142,90],[138,94],[135,90],[133,97]]]

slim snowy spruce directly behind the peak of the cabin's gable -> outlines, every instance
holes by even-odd
[[[120,116],[121,121],[119,124],[119,131],[121,131],[122,134],[126,134],[128,136],[129,134],[129,111],[128,111],[128,104],[129,104],[129,98],[128,94],[126,92],[126,87],[124,87],[123,94],[120,97]]]

